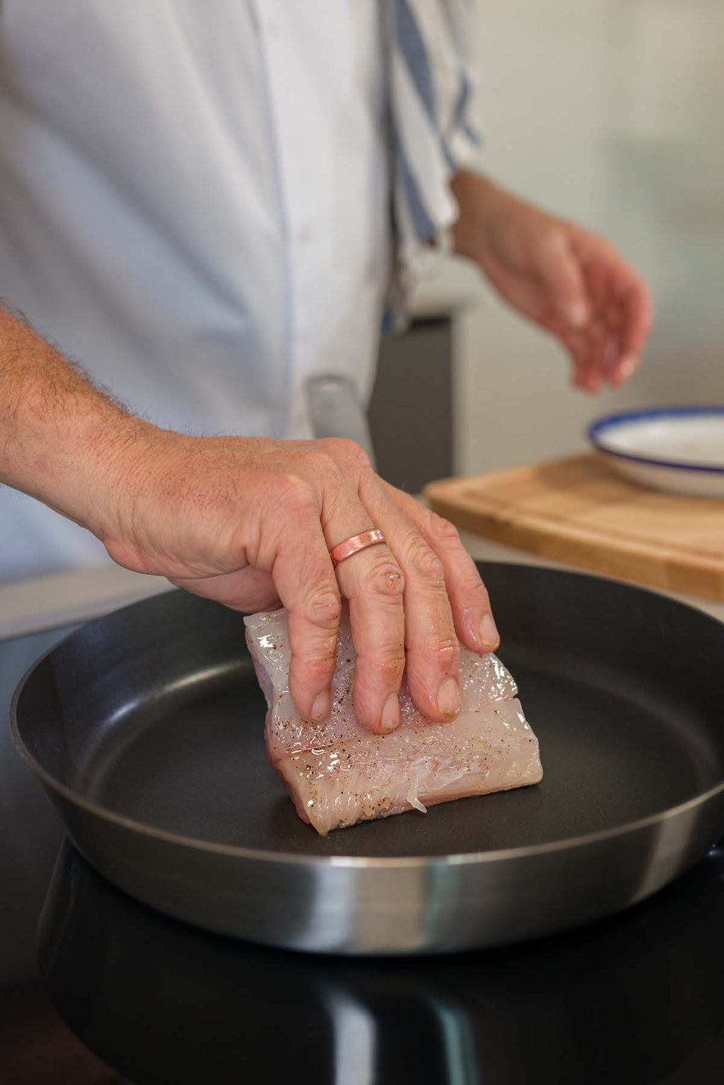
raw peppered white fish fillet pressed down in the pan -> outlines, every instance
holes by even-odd
[[[538,742],[525,722],[516,682],[496,655],[461,649],[462,711],[444,724],[425,719],[403,682],[402,723],[373,735],[353,707],[355,650],[343,618],[332,680],[332,711],[305,719],[289,693],[287,612],[244,618],[246,642],[267,700],[269,761],[303,821],[331,829],[432,803],[506,791],[543,777]]]

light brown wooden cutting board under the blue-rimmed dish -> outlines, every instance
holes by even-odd
[[[724,501],[633,486],[597,456],[430,483],[457,527],[592,572],[724,600]]]

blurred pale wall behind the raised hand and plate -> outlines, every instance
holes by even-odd
[[[478,165],[605,233],[647,277],[656,326],[622,392],[569,386],[556,344],[449,261],[422,293],[472,299],[455,321],[455,468],[583,445],[596,414],[724,401],[724,3],[480,0]]]

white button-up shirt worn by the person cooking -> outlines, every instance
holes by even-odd
[[[3,0],[0,295],[150,420],[309,436],[390,267],[377,0]],[[0,580],[105,551],[0,488]]]

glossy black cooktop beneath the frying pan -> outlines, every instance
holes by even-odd
[[[334,959],[203,933],[62,843],[11,746],[10,692],[64,631],[0,643],[1,1082],[724,1080],[724,847],[615,919],[492,952]]]

